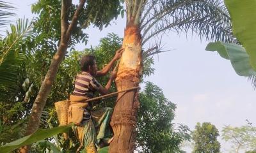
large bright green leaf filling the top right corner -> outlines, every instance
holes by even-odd
[[[256,22],[250,20],[256,15],[256,1],[225,0],[232,19],[232,30],[250,56],[250,64],[256,71]]]

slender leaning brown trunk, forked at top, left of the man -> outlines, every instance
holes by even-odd
[[[40,118],[42,115],[42,111],[44,110],[47,96],[51,92],[51,87],[52,87],[52,84],[56,77],[57,71],[60,67],[63,57],[65,56],[65,53],[67,52],[68,41],[70,40],[72,30],[74,29],[74,27],[77,24],[77,18],[79,16],[81,9],[84,6],[85,0],[80,1],[79,6],[77,6],[77,10],[74,13],[74,17],[72,18],[72,21],[68,25],[67,15],[68,15],[68,7],[71,4],[70,2],[71,1],[66,1],[66,0],[62,1],[60,46],[59,46],[56,54],[52,58],[50,67],[45,75],[44,82],[42,83],[42,85],[39,89],[39,92],[36,96],[35,102],[33,103],[25,135],[31,135],[40,126]],[[28,150],[29,150],[29,146],[24,146],[24,147],[20,148],[19,152],[26,153],[26,152],[28,152]]]

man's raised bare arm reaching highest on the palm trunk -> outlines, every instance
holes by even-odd
[[[124,48],[120,48],[119,50],[117,50],[115,56],[113,57],[113,59],[104,68],[102,68],[101,70],[97,71],[97,77],[106,75],[109,72],[109,70],[113,67],[115,61],[120,59],[123,51],[124,51]]]

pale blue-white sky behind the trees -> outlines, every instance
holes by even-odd
[[[17,17],[32,18],[31,4],[35,0],[8,0],[17,8]],[[14,19],[15,20],[15,19]],[[99,44],[100,38],[108,33],[124,36],[125,18],[111,22],[99,31],[92,26],[86,29],[88,45],[78,44],[77,50]],[[163,89],[164,95],[177,105],[175,123],[195,128],[196,122],[211,122],[221,129],[226,125],[243,126],[246,119],[256,126],[255,91],[246,77],[240,77],[230,61],[216,52],[207,52],[207,41],[191,34],[168,33],[163,36],[164,50],[172,50],[154,55],[156,69],[154,75],[145,78]],[[143,85],[142,85],[143,86]],[[221,152],[230,150],[230,143],[219,137]],[[191,152],[189,147],[185,148]]]

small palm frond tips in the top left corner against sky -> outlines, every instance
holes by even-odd
[[[15,15],[15,13],[11,12],[12,10],[15,10],[15,8],[11,3],[0,1],[0,27],[10,23],[8,20],[5,20],[5,18],[13,17]]]

